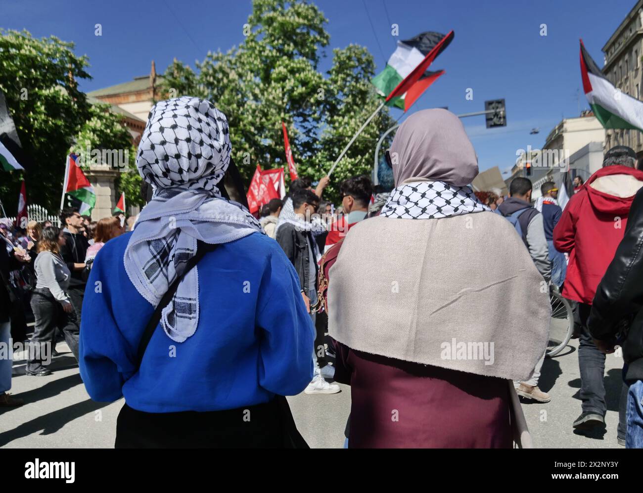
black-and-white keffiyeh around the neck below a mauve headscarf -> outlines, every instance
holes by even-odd
[[[394,188],[379,215],[399,219],[438,219],[491,211],[469,186],[443,181],[417,181]]]

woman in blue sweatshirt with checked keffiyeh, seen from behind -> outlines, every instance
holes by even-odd
[[[293,265],[218,184],[224,114],[184,96],[154,105],[136,157],[154,198],[93,264],[80,330],[92,399],[125,397],[116,447],[280,447],[276,396],[312,378],[314,328]],[[182,278],[199,244],[217,245]],[[145,327],[181,278],[139,362]]]

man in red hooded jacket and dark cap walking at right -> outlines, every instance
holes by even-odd
[[[603,167],[572,195],[554,228],[554,247],[569,253],[562,294],[578,302],[581,320],[578,363],[583,412],[574,421],[579,430],[605,426],[605,355],[594,345],[587,319],[596,288],[623,238],[634,195],[643,187],[643,172],[634,169],[636,161],[629,147],[608,150]],[[621,427],[619,437],[624,437]]]

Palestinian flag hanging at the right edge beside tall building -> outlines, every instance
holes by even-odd
[[[587,101],[604,128],[643,131],[643,101],[622,93],[607,80],[587,53],[582,39],[581,77]]]

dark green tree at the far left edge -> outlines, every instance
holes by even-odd
[[[91,78],[87,57],[77,57],[73,46],[54,36],[35,39],[27,31],[0,30],[0,91],[33,162],[26,173],[3,172],[0,195],[8,214],[17,209],[23,177],[30,202],[59,208],[65,155],[90,108],[77,84]]]

